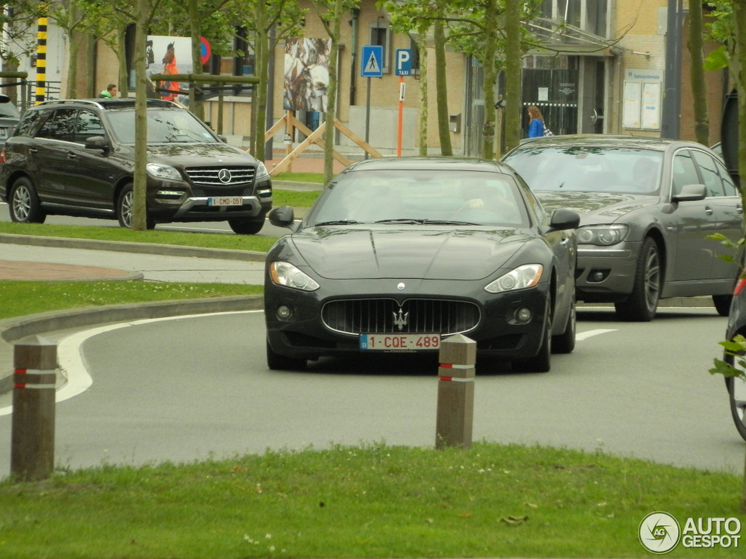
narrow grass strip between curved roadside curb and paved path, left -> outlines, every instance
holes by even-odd
[[[0,320],[38,312],[77,309],[85,306],[147,303],[201,297],[262,294],[262,285],[186,282],[43,282],[0,283]],[[2,375],[0,375],[2,376]],[[2,552],[0,548],[0,557]]]

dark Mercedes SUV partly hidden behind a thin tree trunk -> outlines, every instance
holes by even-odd
[[[258,233],[272,207],[264,164],[188,110],[148,99],[147,226],[228,221]],[[26,110],[0,152],[0,198],[13,221],[48,214],[119,219],[131,227],[135,101],[44,101]]]

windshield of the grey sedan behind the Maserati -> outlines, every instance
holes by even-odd
[[[656,195],[662,159],[650,150],[527,146],[504,161],[535,191]]]

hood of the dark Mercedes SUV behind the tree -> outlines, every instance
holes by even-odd
[[[166,163],[175,167],[194,165],[255,165],[245,151],[222,142],[210,144],[150,144],[148,162]]]

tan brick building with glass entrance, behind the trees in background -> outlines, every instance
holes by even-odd
[[[668,7],[682,6],[680,13],[669,13]],[[530,22],[534,34],[542,37],[546,48],[527,53],[523,60],[521,107],[537,104],[554,133],[629,133],[633,135],[671,135],[663,107],[671,102],[667,88],[677,88],[679,103],[674,109],[674,136],[693,139],[692,93],[689,84],[688,4],[686,0],[545,0],[539,19]],[[696,5],[699,5],[697,3]],[[671,14],[674,17],[671,17]],[[565,25],[560,25],[564,22]],[[680,25],[669,33],[671,23]],[[399,80],[395,75],[395,52],[412,49],[412,38],[392,31],[389,16],[378,10],[374,0],[360,1],[360,8],[342,23],[339,51],[338,117],[360,138],[382,154],[395,153],[399,104]],[[324,39],[322,23],[309,10],[304,37]],[[671,37],[676,48],[667,42]],[[66,37],[54,30],[50,22],[48,79],[59,76],[60,89],[66,91]],[[383,46],[380,78],[361,76],[363,45]],[[709,45],[708,48],[714,48]],[[78,60],[78,96],[96,95],[107,83],[116,82],[117,59],[102,42],[81,48]],[[675,56],[674,56],[675,55]],[[677,66],[669,66],[678,58]],[[213,57],[216,59],[216,57]],[[436,127],[435,68],[432,48],[427,53],[427,149],[439,153]],[[160,60],[160,59],[159,59]],[[482,72],[465,54],[447,52],[448,115],[451,143],[455,154],[478,155],[483,121]],[[24,65],[26,66],[24,68]],[[22,61],[20,69],[33,76],[31,60]],[[90,69],[90,70],[89,70]],[[205,69],[213,73],[251,75],[253,58],[213,60]],[[667,76],[668,72],[668,76]],[[272,95],[269,110],[272,122],[286,114],[285,45],[275,51],[272,66]],[[419,72],[404,78],[402,153],[419,151]],[[671,78],[676,78],[674,82]],[[33,79],[33,78],[30,78]],[[724,95],[729,90],[724,72],[707,72],[710,142],[720,137],[720,118]],[[671,83],[674,83],[671,86]],[[369,89],[370,88],[370,92]],[[498,80],[498,92],[504,83]],[[87,92],[87,93],[84,93]],[[368,98],[370,98],[368,113]],[[675,97],[673,97],[675,98]],[[222,119],[218,122],[219,116]],[[368,116],[369,114],[369,116]],[[247,144],[251,115],[251,95],[226,95],[222,113],[214,100],[206,104],[205,119],[229,137],[231,142]],[[296,110],[295,116],[310,128],[318,126],[323,113]],[[678,118],[676,118],[678,117]],[[366,121],[369,126],[366,127]],[[284,131],[284,130],[283,130]],[[296,134],[293,142],[304,136]],[[275,149],[283,148],[283,134],[275,136]],[[336,134],[340,151],[356,153],[357,145],[346,136]],[[498,152],[499,153],[499,152]]]

